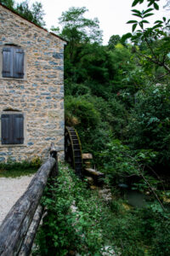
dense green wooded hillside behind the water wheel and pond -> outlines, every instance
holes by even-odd
[[[143,2],[134,1],[133,6]],[[156,1],[148,2],[157,9]],[[100,44],[99,21],[84,18],[87,9],[69,9],[59,19],[59,35],[68,40],[65,123],[76,127],[82,150],[94,154],[99,168],[105,166],[103,151],[109,152],[108,145],[117,139],[133,156],[140,150],[154,152],[150,167],[156,172],[169,166],[169,20],[164,19],[165,26],[160,21],[160,26],[144,29],[153,8],[144,15],[133,10],[143,19],[138,23],[143,30],[122,38],[113,35],[107,46]],[[99,37],[94,41],[96,32]],[[109,155],[108,161],[112,164]]]

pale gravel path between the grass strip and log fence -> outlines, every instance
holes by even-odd
[[[10,208],[26,191],[33,176],[0,177],[0,224]]]

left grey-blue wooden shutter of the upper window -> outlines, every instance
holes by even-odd
[[[12,48],[3,48],[3,77],[13,76],[13,52]]]

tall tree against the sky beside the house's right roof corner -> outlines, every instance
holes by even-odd
[[[59,33],[58,27],[52,28],[68,41],[65,48],[65,79],[69,79],[71,83],[82,83],[84,78],[87,79],[87,67],[84,68],[82,62],[86,61],[86,56],[90,60],[92,48],[98,48],[102,42],[99,20],[85,18],[87,11],[85,7],[72,7],[59,18],[61,32]]]

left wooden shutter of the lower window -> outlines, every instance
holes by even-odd
[[[2,144],[10,144],[10,124],[11,116],[2,114],[1,116],[1,142]]]

